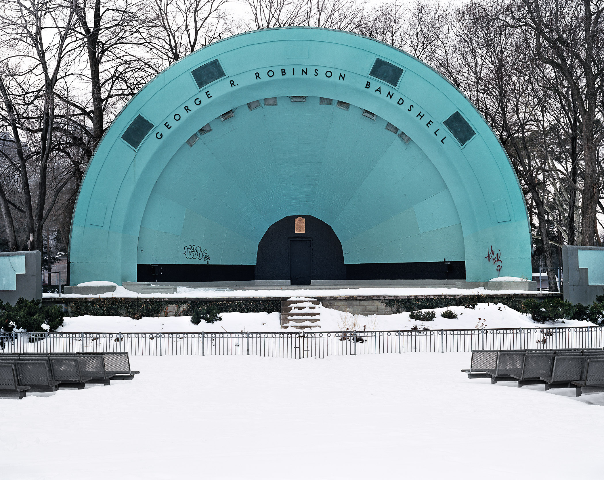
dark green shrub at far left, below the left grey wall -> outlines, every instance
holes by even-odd
[[[55,332],[63,325],[64,315],[58,305],[42,306],[42,300],[19,298],[14,305],[0,300],[0,330],[5,332],[18,329],[27,332],[45,332],[42,324],[50,327],[49,332]]]

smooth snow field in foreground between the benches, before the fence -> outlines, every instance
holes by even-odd
[[[604,394],[470,380],[469,353],[130,360],[0,400],[0,478],[602,478]]]

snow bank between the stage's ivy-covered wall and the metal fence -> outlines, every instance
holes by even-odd
[[[457,318],[442,318],[443,311],[451,309]],[[495,303],[479,303],[475,309],[463,307],[436,308],[436,318],[432,321],[417,321],[409,317],[410,312],[394,315],[351,315],[337,310],[318,308],[321,320],[313,330],[334,332],[341,330],[411,330],[417,329],[474,329],[474,328],[527,328],[551,326],[536,323],[530,315],[523,315],[511,308]],[[191,317],[143,317],[133,320],[129,317],[65,317],[60,332],[277,332],[280,331],[278,313],[223,313],[221,321],[199,325],[191,323]],[[557,322],[560,327],[588,327],[593,323],[582,320]],[[289,327],[287,330],[294,330]]]

